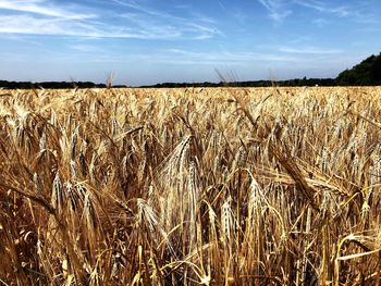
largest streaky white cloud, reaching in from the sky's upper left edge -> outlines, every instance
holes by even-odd
[[[87,14],[82,12],[86,7],[48,0],[0,0],[0,12],[4,12],[0,33],[137,39],[206,39],[221,34],[205,17],[189,21],[133,1],[113,2],[123,7],[118,16],[114,11]]]

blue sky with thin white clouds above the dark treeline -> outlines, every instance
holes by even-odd
[[[335,77],[381,51],[379,15],[380,0],[0,0],[0,79]]]

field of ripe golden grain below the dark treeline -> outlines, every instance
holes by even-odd
[[[0,285],[377,285],[380,102],[0,90]]]

